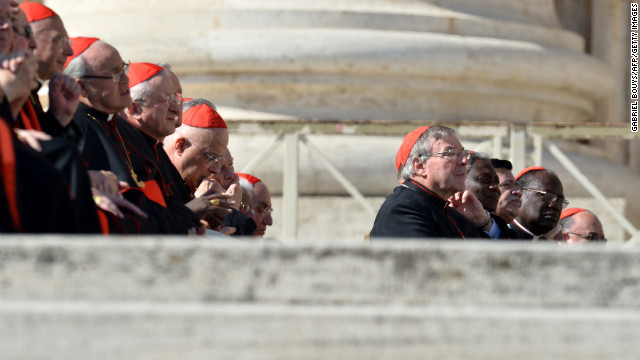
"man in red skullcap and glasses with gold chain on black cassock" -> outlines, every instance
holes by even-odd
[[[176,216],[160,202],[149,198],[157,183],[145,183],[138,178],[133,160],[127,151],[120,128],[130,126],[117,114],[131,105],[127,65],[118,51],[96,38],[79,38],[76,56],[65,72],[76,78],[82,88],[80,105],[74,115],[73,125],[80,135],[78,147],[92,170],[109,170],[127,186],[121,191],[125,199],[139,205],[144,214],[133,209],[123,212],[116,230],[126,233],[176,233],[195,231],[189,221]],[[146,186],[152,189],[145,190]],[[161,190],[161,189],[160,189]]]

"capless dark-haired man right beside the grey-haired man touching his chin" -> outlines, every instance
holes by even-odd
[[[507,227],[507,222],[495,214],[500,200],[499,183],[498,175],[489,156],[484,153],[472,153],[467,162],[465,186],[478,198],[482,207],[492,213],[491,217],[496,226],[489,231],[489,236],[494,239],[517,238],[515,232]]]

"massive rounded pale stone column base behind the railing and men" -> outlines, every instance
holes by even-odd
[[[98,36],[131,61],[172,63],[185,95],[212,100],[228,120],[237,114],[229,109],[240,109],[301,118],[577,122],[593,120],[613,89],[610,68],[561,28],[552,0],[47,4],[71,36]],[[241,167],[262,140],[233,138]],[[401,140],[373,140],[342,137],[320,147],[361,190],[387,194]],[[343,193],[326,175],[306,178],[317,174],[312,158],[302,154],[301,164],[302,193]],[[256,171],[278,192],[280,169]]]

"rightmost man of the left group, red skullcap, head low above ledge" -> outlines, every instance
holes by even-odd
[[[267,226],[273,225],[273,218],[271,213],[271,194],[269,189],[255,176],[238,173],[240,178],[240,186],[251,194],[251,210],[249,214],[253,221],[258,226],[253,232],[253,236],[264,236],[267,231]]]

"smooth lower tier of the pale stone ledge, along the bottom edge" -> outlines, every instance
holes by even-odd
[[[637,359],[634,310],[0,302],[2,358]]]

